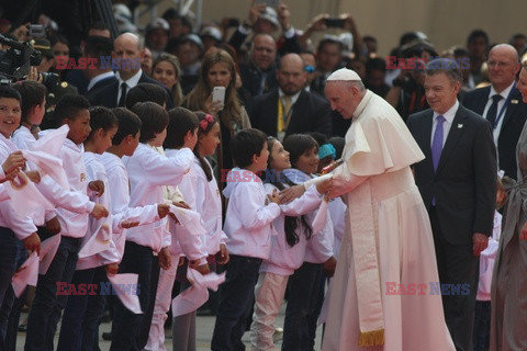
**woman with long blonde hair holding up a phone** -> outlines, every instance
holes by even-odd
[[[225,100],[212,102],[214,87],[225,88]],[[249,116],[236,94],[236,68],[231,55],[225,50],[209,52],[203,57],[198,83],[184,98],[183,107],[203,111],[215,115],[222,127],[222,147],[218,148],[217,168],[231,169],[231,138],[240,129],[250,128]]]

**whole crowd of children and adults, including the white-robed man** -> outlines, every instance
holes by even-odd
[[[46,15],[44,37],[0,19],[42,54],[0,86],[1,350],[22,329],[25,350],[99,350],[110,310],[111,350],[165,350],[171,326],[192,351],[203,304],[212,350],[246,331],[314,350],[319,324],[325,351],[527,349],[526,35],[440,52],[410,32],[384,59],[349,14],[301,31],[253,1],[138,31],[113,10],[119,35],[96,21],[80,45]],[[104,293],[125,273],[136,305]]]

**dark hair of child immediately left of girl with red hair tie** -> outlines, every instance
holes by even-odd
[[[198,128],[198,116],[184,107],[168,111],[167,138],[162,144],[166,149],[176,149],[184,145],[184,136]]]

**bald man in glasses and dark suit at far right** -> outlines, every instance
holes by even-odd
[[[500,44],[491,49],[486,64],[492,84],[468,92],[463,105],[491,122],[498,169],[516,179],[516,144],[527,118],[527,104],[516,89],[518,54],[513,46]]]

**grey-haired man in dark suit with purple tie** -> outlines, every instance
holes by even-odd
[[[457,350],[471,351],[478,256],[493,229],[497,169],[489,122],[458,102],[461,84],[456,61],[430,61],[430,110],[407,124],[426,157],[414,166],[415,182],[430,217],[445,318]]]

